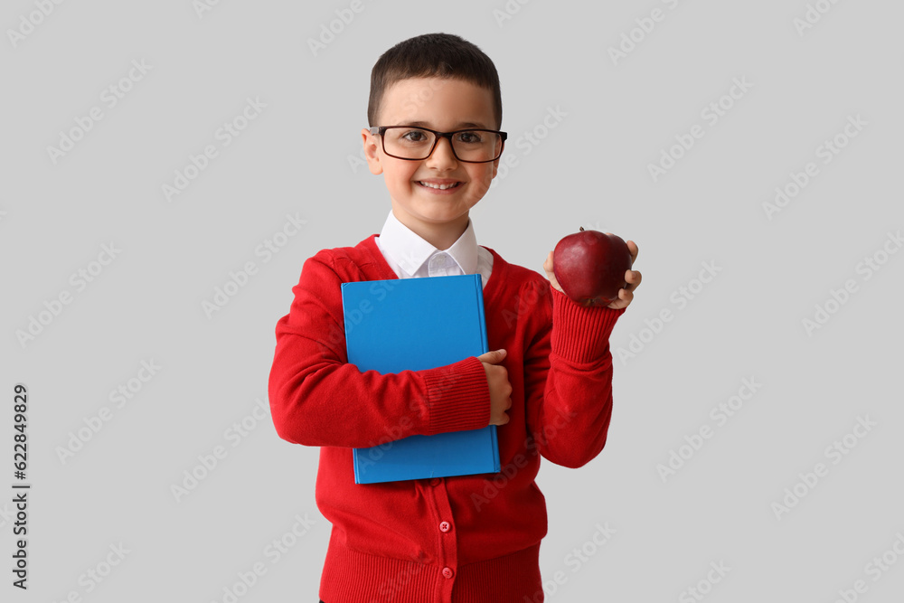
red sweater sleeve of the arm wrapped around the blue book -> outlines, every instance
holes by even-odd
[[[305,446],[370,448],[488,425],[489,387],[476,356],[387,374],[348,363],[343,281],[329,253],[306,260],[289,313],[277,323],[268,397],[279,437]]]

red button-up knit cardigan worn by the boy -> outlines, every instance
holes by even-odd
[[[498,474],[354,483],[352,448],[489,424],[483,364],[470,356],[381,375],[348,363],[340,283],[397,278],[373,234],[306,260],[276,327],[269,401],[280,438],[320,447],[316,503],[333,524],[320,583],[326,603],[543,600],[546,501],[540,455],[579,467],[606,443],[608,338],[618,316],[581,307],[494,250],[484,288],[490,350],[504,348],[509,422]],[[539,455],[538,455],[539,452]]]

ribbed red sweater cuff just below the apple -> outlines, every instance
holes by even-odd
[[[552,290],[551,352],[570,363],[598,361],[607,352],[609,334],[627,308],[584,307],[559,289]]]

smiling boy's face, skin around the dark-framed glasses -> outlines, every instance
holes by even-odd
[[[482,127],[495,129],[490,90],[461,80],[411,78],[393,84],[383,94],[376,126],[428,127],[440,132]],[[489,190],[499,160],[485,164],[458,161],[447,138],[440,138],[433,153],[419,161],[398,159],[383,153],[379,136],[362,130],[364,155],[372,174],[383,174],[392,200],[392,212],[400,222],[423,232],[465,231],[467,212]],[[419,182],[454,180],[454,189],[440,191]],[[451,242],[455,242],[453,239]],[[451,244],[451,243],[449,243]]]

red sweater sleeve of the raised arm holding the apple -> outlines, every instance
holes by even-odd
[[[546,321],[524,354],[527,429],[543,457],[577,468],[606,444],[612,415],[609,334],[625,308],[579,306],[545,282]]]

